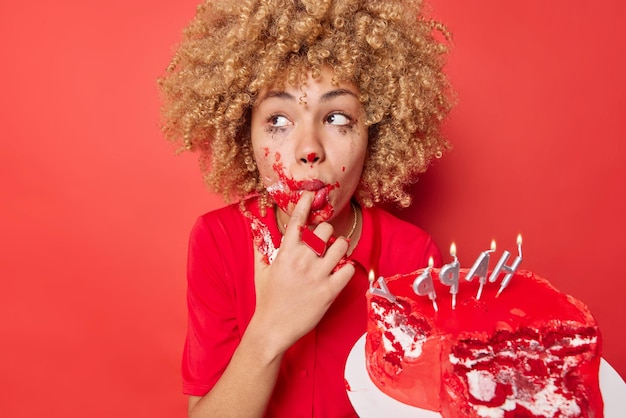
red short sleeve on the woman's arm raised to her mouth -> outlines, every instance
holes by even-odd
[[[188,326],[182,359],[183,392],[187,395],[203,396],[211,390],[240,341],[233,275],[243,273],[232,263],[238,255],[233,254],[237,245],[228,234],[232,222],[207,214],[197,220],[190,234]]]

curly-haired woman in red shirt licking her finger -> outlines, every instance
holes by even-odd
[[[160,80],[164,131],[235,200],[190,238],[190,416],[356,416],[343,369],[375,276],[438,249],[374,204],[447,148],[443,28],[420,2],[207,1]]]

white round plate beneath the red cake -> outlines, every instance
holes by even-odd
[[[346,363],[345,378],[348,397],[360,418],[441,418],[438,412],[427,411],[396,401],[381,392],[365,368],[365,334],[352,347]],[[606,360],[600,362],[600,390],[604,399],[604,417],[624,417],[626,383]]]

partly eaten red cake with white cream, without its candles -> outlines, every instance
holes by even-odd
[[[413,290],[424,270],[367,294],[366,368],[380,391],[444,418],[603,416],[601,338],[582,302],[521,270],[477,299],[460,269],[453,309],[440,270],[428,271],[437,310]]]

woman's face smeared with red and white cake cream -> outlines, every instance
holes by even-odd
[[[305,190],[315,192],[309,224],[332,221],[354,194],[367,153],[359,91],[332,83],[324,69],[301,86],[263,89],[252,109],[252,147],[261,179],[291,216]],[[332,222],[331,222],[332,223]]]

